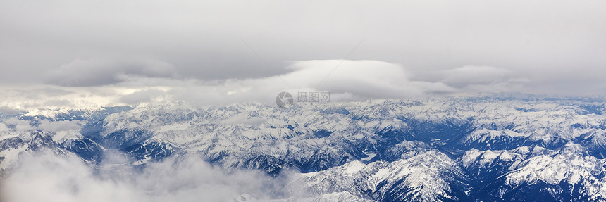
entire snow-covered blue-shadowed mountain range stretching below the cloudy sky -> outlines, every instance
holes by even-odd
[[[606,201],[601,99],[457,97],[1,114],[0,169],[40,150],[144,168],[197,156],[288,175],[266,201]],[[296,196],[296,197],[295,197]],[[234,201],[255,201],[246,193]]]

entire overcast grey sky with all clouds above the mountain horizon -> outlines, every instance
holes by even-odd
[[[604,95],[604,11],[606,1],[0,0],[0,105],[285,90]]]

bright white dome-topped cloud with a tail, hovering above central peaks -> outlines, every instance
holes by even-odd
[[[283,75],[290,86],[362,97],[406,98],[454,90],[438,82],[413,82],[401,65],[383,61],[299,61],[290,68],[295,71]]]

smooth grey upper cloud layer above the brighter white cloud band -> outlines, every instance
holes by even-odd
[[[600,94],[604,8],[567,0],[6,0],[0,83],[260,79],[288,73],[287,61],[347,58],[400,64],[417,81],[488,66],[528,79],[528,91]]]

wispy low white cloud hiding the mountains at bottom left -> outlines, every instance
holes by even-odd
[[[241,194],[268,198],[285,191],[279,190],[280,178],[256,171],[226,172],[195,157],[168,158],[142,170],[111,163],[94,170],[75,156],[21,156],[0,184],[0,200],[233,201]]]

